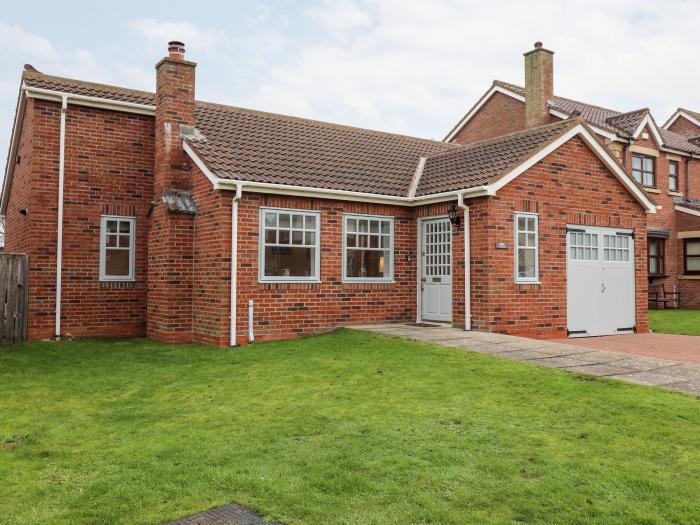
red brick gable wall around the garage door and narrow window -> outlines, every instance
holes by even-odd
[[[539,213],[542,284],[514,282],[515,211]],[[538,162],[496,197],[476,200],[473,214],[474,222],[478,224],[485,216],[487,224],[481,238],[476,234],[478,226],[472,227],[475,328],[566,337],[566,225],[581,224],[634,229],[637,326],[647,330],[645,213],[580,138]],[[497,242],[504,242],[507,249],[494,249]],[[479,304],[481,301],[486,304]]]

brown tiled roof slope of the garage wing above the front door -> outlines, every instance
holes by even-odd
[[[560,136],[580,120],[562,120],[547,126],[475,142],[428,158],[417,196],[482,186]]]

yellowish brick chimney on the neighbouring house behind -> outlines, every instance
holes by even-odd
[[[550,122],[547,101],[553,94],[554,52],[535,42],[535,49],[525,53],[525,127]]]

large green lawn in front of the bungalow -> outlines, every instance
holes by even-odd
[[[700,522],[700,400],[339,330],[0,348],[0,523]]]

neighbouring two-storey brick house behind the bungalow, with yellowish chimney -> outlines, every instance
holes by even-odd
[[[445,141],[472,144],[575,116],[585,119],[659,205],[647,227],[649,284],[680,292],[684,307],[700,307],[700,114],[679,108],[659,127],[647,108],[621,113],[559,97],[553,53],[540,44],[525,60],[525,87],[495,80]]]

